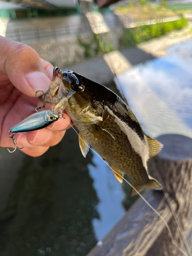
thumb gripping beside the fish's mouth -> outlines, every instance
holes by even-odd
[[[3,36],[0,45],[0,75],[7,75],[15,88],[31,97],[49,88],[50,80],[35,50]]]

